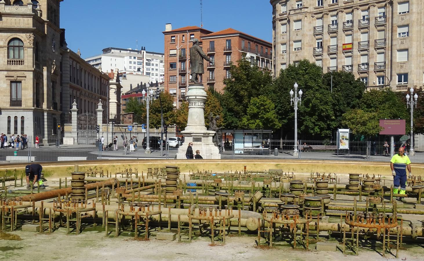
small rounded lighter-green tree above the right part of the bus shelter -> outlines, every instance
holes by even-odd
[[[264,95],[251,98],[247,115],[240,121],[243,129],[279,129],[281,123],[273,102]]]

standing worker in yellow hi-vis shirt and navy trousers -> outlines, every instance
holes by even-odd
[[[400,147],[399,152],[393,155],[390,160],[390,168],[392,169],[393,175],[393,194],[405,194],[406,191],[406,169],[409,171],[409,177],[411,173],[411,161],[407,155],[404,155],[404,148]],[[400,186],[400,190],[399,190]]]

